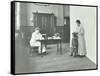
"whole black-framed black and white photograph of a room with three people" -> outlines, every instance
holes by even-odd
[[[15,74],[96,70],[97,6],[13,1]]]

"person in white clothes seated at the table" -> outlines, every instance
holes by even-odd
[[[42,53],[46,53],[46,48],[45,46],[41,46],[41,42],[38,40],[44,39],[42,37],[42,34],[40,33],[40,29],[38,27],[35,28],[35,31],[32,33],[31,39],[30,39],[30,46],[31,47],[38,47],[38,53],[41,54]],[[41,47],[43,47],[43,49],[41,50]]]

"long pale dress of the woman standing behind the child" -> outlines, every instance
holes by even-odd
[[[82,26],[77,28],[78,32],[78,54],[79,55],[86,55],[86,44],[85,44],[85,32]]]

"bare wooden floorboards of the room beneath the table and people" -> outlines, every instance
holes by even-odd
[[[20,44],[19,44],[20,43]],[[47,54],[43,57],[33,52],[21,41],[16,42],[16,73],[34,73],[50,71],[68,71],[95,69],[96,65],[87,57],[69,56],[69,43],[63,43],[62,55],[57,54],[56,45],[48,45]]]

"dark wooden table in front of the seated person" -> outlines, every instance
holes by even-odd
[[[62,39],[42,39],[42,40],[38,40],[41,42],[41,56],[43,56],[42,54],[42,46],[47,45],[48,42],[53,42],[57,44],[57,54],[58,52],[60,52],[60,54],[62,54]]]

